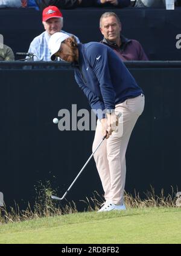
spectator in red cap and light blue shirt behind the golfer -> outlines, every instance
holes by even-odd
[[[48,49],[49,38],[56,32],[62,32],[69,36],[72,34],[62,30],[63,15],[56,6],[48,6],[43,10],[42,23],[45,32],[36,36],[30,44],[28,52],[34,53],[34,61],[50,61],[50,53]],[[78,42],[79,39],[75,36]]]

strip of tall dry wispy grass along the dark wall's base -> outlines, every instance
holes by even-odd
[[[150,191],[144,193],[145,198],[142,199],[139,193],[135,195],[129,193],[124,194],[124,201],[126,207],[129,208],[144,208],[144,207],[177,207],[176,206],[176,192],[171,187],[171,194],[165,196],[164,189],[161,190],[159,195],[156,195],[153,187]],[[28,203],[27,209],[21,211],[19,206],[15,203],[14,207],[7,210],[7,207],[0,207],[0,225],[5,223],[13,223],[17,221],[32,220],[34,218],[52,217],[63,214],[73,214],[78,212],[74,201],[67,202],[64,207],[60,206],[57,201],[51,199],[52,194],[56,191],[51,189],[49,183],[46,185],[40,184],[40,188],[36,189],[37,198],[34,207]],[[84,211],[97,211],[103,204],[103,197],[96,191],[93,196],[85,200],[80,200],[84,203]]]

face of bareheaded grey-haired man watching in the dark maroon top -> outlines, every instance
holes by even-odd
[[[115,16],[109,16],[102,19],[100,30],[104,38],[109,41],[116,41],[120,38],[121,24]]]

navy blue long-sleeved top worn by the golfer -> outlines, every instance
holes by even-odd
[[[99,42],[78,44],[75,80],[93,110],[115,109],[116,104],[142,93],[119,56]]]

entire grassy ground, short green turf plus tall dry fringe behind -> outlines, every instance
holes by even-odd
[[[74,202],[64,209],[51,200],[48,187],[40,190],[34,208],[0,208],[0,243],[181,243],[181,207],[176,194],[165,197],[154,189],[145,194],[124,195],[127,211],[97,212],[103,203],[95,192],[86,198],[86,212],[78,213]]]

